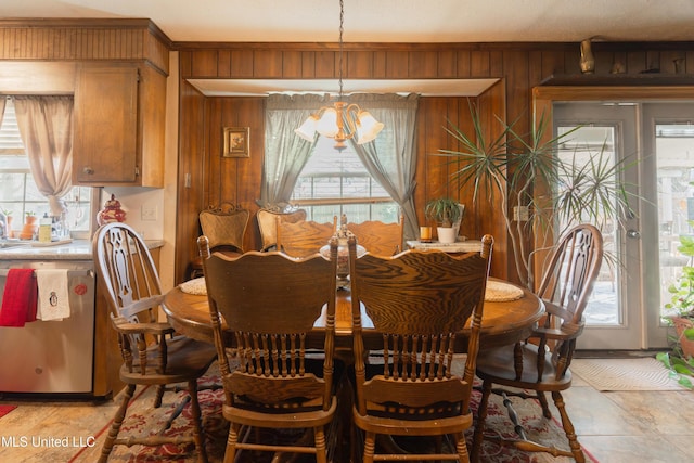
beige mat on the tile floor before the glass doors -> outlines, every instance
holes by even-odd
[[[597,390],[685,390],[652,357],[574,359],[571,372]]]

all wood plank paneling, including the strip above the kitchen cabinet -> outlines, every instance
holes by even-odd
[[[196,254],[201,209],[219,201],[257,209],[264,156],[262,98],[205,98],[185,79],[336,79],[337,43],[170,42],[149,20],[0,20],[0,62],[9,64],[146,60],[166,75],[169,50],[180,52],[176,243],[176,281],[180,282]],[[694,42],[595,42],[593,52],[595,74],[608,74],[616,62],[628,75],[653,68],[672,74],[676,59],[683,60],[685,73],[694,74]],[[344,65],[345,78],[498,78],[499,83],[477,99],[485,119],[493,125],[494,116],[506,120],[519,117],[516,128],[525,131],[531,120],[532,87],[553,74],[579,74],[579,44],[346,43]],[[63,87],[61,92],[70,91]],[[470,129],[467,105],[465,98],[421,99],[415,204],[422,214],[429,198],[457,194],[468,207],[463,233],[472,237],[492,233],[497,237],[492,273],[513,279],[512,256],[499,213],[468,204],[467,188],[451,190],[448,176],[454,166],[444,166],[441,158],[430,156],[439,149],[453,147],[444,131],[448,120]],[[250,127],[250,158],[220,157],[221,130],[227,126]],[[246,248],[257,248],[258,243],[257,227],[252,221]]]

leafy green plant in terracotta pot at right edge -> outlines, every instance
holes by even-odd
[[[690,221],[694,226],[694,221]],[[694,383],[694,237],[680,235],[678,250],[686,256],[689,261],[682,267],[682,273],[668,287],[672,295],[670,303],[665,305],[669,313],[664,320],[674,326],[674,336],[669,336],[672,343],[670,352],[659,352],[656,358],[669,370],[682,386],[692,389]]]

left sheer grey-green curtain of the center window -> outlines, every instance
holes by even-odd
[[[259,206],[283,209],[313,151],[314,143],[294,130],[318,108],[330,104],[330,95],[271,94],[265,111],[265,163]]]

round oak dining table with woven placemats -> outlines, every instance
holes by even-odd
[[[492,279],[490,279],[492,280]],[[544,304],[531,292],[523,288],[523,296],[511,301],[485,301],[481,320],[480,346],[502,346],[516,343],[528,337],[537,321],[544,313]],[[164,298],[164,311],[176,331],[194,339],[214,343],[211,321],[207,296],[187,294],[179,286],[168,292]],[[361,312],[364,342],[374,340],[374,348],[382,343],[380,334],[374,330],[362,307]],[[316,347],[322,347],[324,317],[321,316],[313,325],[312,333]],[[338,290],[335,308],[336,347],[351,348],[351,298],[349,291]],[[458,336],[457,350],[467,347],[466,330]],[[369,346],[365,346],[369,348]]]

